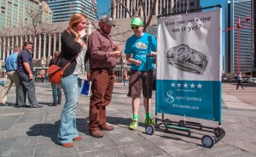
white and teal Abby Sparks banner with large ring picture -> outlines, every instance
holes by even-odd
[[[221,121],[221,8],[160,18],[156,112]]]

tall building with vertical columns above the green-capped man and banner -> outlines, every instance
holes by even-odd
[[[137,10],[140,0],[119,0],[131,11],[131,14],[134,15]],[[151,8],[154,5],[154,0],[145,1],[145,14],[149,15]],[[115,0],[112,0],[113,4],[113,19],[129,18],[129,14],[125,11],[125,8],[116,3]],[[154,15],[159,14],[172,14],[185,10],[200,8],[200,0],[157,0],[155,3],[155,12]],[[138,9],[138,16],[143,16],[143,8]]]

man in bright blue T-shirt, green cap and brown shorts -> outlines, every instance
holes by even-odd
[[[131,63],[131,75],[129,79],[128,97],[131,97],[133,121],[129,129],[135,130],[138,126],[138,110],[140,106],[140,97],[143,90],[143,104],[145,109],[145,124],[155,125],[151,118],[151,97],[154,82],[154,59],[147,55],[156,55],[156,40],[154,36],[143,32],[143,21],[139,18],[131,20],[131,30],[134,32],[125,44],[126,60]],[[131,57],[132,56],[132,57]],[[147,82],[147,64],[148,64],[148,82]],[[148,84],[148,91],[147,91]],[[147,106],[148,93],[148,106]]]

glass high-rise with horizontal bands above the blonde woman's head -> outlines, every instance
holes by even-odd
[[[53,23],[70,20],[72,14],[86,14],[89,20],[96,20],[96,1],[92,0],[47,0],[53,12]]]

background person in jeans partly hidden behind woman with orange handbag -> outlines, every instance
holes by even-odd
[[[55,51],[54,53],[54,58],[49,60],[49,66],[52,64],[56,64],[57,59],[60,56],[60,51]],[[45,75],[46,79],[46,75]],[[53,103],[49,104],[49,106],[57,106],[58,104],[61,104],[61,83],[59,84],[53,84],[51,83],[51,88],[52,88],[52,98],[53,98]]]

